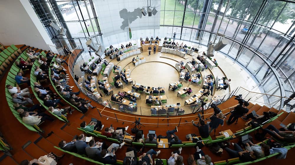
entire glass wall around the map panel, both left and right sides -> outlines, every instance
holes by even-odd
[[[58,38],[48,26],[51,20],[68,29],[65,38],[72,41],[86,40],[96,31],[104,46],[130,42],[128,33],[104,37],[93,7],[97,1],[86,2],[94,29],[83,1],[31,0],[53,40]],[[231,0],[226,6],[227,0],[161,0],[160,29],[132,31],[132,41],[146,36],[172,38],[176,32],[176,39],[207,46],[221,24],[219,33],[227,36],[230,44],[220,52],[245,67],[266,93],[289,97],[295,86],[295,45],[290,42],[295,36],[295,2]]]

